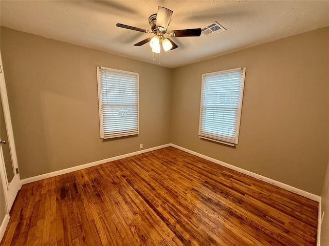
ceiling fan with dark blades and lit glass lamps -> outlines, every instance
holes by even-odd
[[[138,27],[127,26],[120,23],[117,24],[117,27],[154,34],[153,37],[145,38],[144,40],[141,40],[135,44],[135,46],[142,46],[150,42],[152,52],[154,53],[160,53],[161,46],[165,51],[178,48],[178,46],[169,37],[198,37],[201,35],[201,28],[173,30],[167,32],[172,14],[172,10],[159,6],[158,12],[156,14],[152,14],[149,17],[151,31]],[[166,37],[165,35],[169,37]]]

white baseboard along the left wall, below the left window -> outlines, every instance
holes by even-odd
[[[59,170],[59,171],[54,171],[54,172],[51,172],[51,173],[45,173],[45,174],[41,174],[41,175],[38,175],[38,176],[25,178],[25,179],[21,180],[21,184],[25,185],[26,183],[31,183],[31,182],[39,181],[39,180],[42,180],[42,179],[45,179],[45,178],[51,178],[51,177],[55,177],[55,176],[58,176],[58,175],[61,175],[61,174],[70,173],[70,172],[78,171],[78,170],[81,170],[81,169],[94,167],[94,166],[97,166],[97,165],[100,165],[100,164],[103,164],[103,163],[106,163],[106,162],[109,162],[109,161],[123,159],[123,158],[130,157],[130,156],[133,156],[133,155],[139,155],[139,154],[142,154],[142,153],[146,153],[146,152],[150,152],[150,151],[153,151],[153,150],[166,148],[166,147],[169,147],[169,146],[171,146],[171,145],[170,144],[160,145],[160,146],[156,146],[156,147],[145,149],[145,150],[140,150],[140,151],[124,154],[124,155],[118,155],[118,156],[106,158],[106,159],[103,159],[103,160],[97,160],[97,161],[94,161],[94,162],[86,163],[84,165],[80,165],[80,166],[76,166],[76,167],[72,167],[72,168],[66,168],[66,169],[62,169],[62,170]]]

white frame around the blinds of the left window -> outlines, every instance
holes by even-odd
[[[98,89],[98,110],[99,110],[99,126],[100,126],[100,138],[101,139],[111,139],[117,137],[133,136],[139,134],[139,74],[130,71],[124,71],[119,69],[107,68],[107,67],[96,67],[97,69],[97,89]],[[103,110],[102,110],[102,92],[101,92],[101,79],[100,79],[100,69],[105,69],[121,74],[132,74],[137,76],[137,130],[134,132],[122,132],[121,134],[109,134],[105,136],[104,134],[104,121],[103,121]]]

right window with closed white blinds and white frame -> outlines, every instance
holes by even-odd
[[[202,75],[200,138],[237,144],[245,72],[236,68]]]

